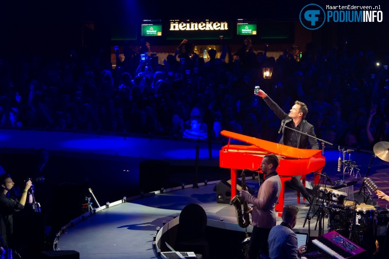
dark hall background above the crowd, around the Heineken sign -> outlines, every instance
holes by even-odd
[[[61,55],[80,46],[103,47],[110,52],[111,33],[117,28],[140,30],[143,19],[256,19],[263,22],[299,22],[300,11],[307,4],[380,5],[383,22],[325,23],[312,31],[312,41],[323,49],[342,47],[348,38],[351,52],[374,50],[387,54],[389,4],[383,0],[368,1],[29,1],[5,2],[0,7],[0,55],[17,52]],[[93,24],[93,30],[83,24]],[[93,31],[93,32],[91,32]],[[89,35],[88,35],[89,34]],[[139,35],[139,33],[138,33]],[[300,37],[298,35],[294,37]],[[239,37],[237,42],[241,42]],[[255,37],[254,37],[255,38]],[[243,39],[243,38],[242,38]],[[176,41],[153,39],[152,45],[176,45]],[[152,41],[152,40],[151,40]],[[258,41],[256,43],[259,43]],[[140,45],[140,37],[132,42]],[[209,44],[216,44],[210,42]],[[304,51],[305,46],[301,46]],[[108,54],[107,54],[108,55]]]

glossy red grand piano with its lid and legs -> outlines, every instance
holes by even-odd
[[[290,180],[294,175],[320,173],[325,165],[325,158],[321,155],[321,150],[298,149],[228,131],[222,131],[221,134],[229,138],[228,145],[220,150],[220,167],[231,169],[231,199],[236,195],[237,169],[256,170],[260,168],[263,156],[267,154],[277,155],[280,161],[277,173],[282,184],[276,205],[278,216],[282,215],[284,207],[285,181]],[[250,145],[231,145],[231,138]],[[319,175],[315,175],[315,184],[319,183],[319,177]]]

